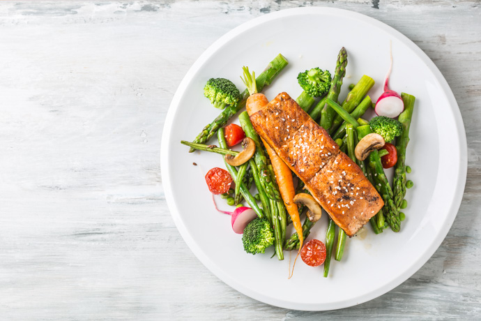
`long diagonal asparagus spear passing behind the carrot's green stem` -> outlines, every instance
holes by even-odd
[[[281,70],[284,69],[285,66],[287,66],[287,64],[287,59],[282,56],[282,54],[278,54],[277,57],[273,59],[273,61],[270,61],[270,63],[261,73],[261,75],[256,78],[257,89],[261,91],[262,89],[264,89],[264,87],[268,86],[281,72]],[[231,117],[233,117],[235,114],[237,114],[239,110],[245,107],[245,102],[247,101],[248,97],[249,91],[245,89],[245,91],[241,93],[241,99],[238,101],[237,105],[231,105],[224,109],[211,124],[208,124],[204,127],[201,133],[199,133],[199,135],[197,135],[197,137],[195,138],[194,143],[203,144],[210,140],[211,137],[217,132],[217,129],[227,124],[227,121],[229,121]],[[191,153],[192,151],[194,151],[194,149],[190,149]]]

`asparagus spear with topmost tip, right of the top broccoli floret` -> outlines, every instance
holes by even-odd
[[[328,92],[327,99],[337,101],[339,93],[341,92],[342,78],[346,75],[347,66],[347,52],[344,47],[339,51],[337,56],[336,69],[334,73],[333,80],[330,82],[330,89]],[[324,105],[321,112],[321,126],[329,130],[330,126],[333,124],[333,119],[335,116],[335,111],[329,105]]]

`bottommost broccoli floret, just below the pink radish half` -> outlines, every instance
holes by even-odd
[[[242,235],[244,251],[247,253],[264,253],[274,244],[274,232],[266,218],[254,218],[244,229]]]

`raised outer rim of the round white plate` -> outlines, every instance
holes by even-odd
[[[197,71],[204,65],[206,60],[211,57],[211,54],[216,52],[220,47],[225,45],[231,38],[238,36],[239,34],[251,29],[258,24],[264,24],[270,20],[277,20],[282,17],[288,17],[290,15],[343,15],[344,17],[349,17],[352,19],[360,20],[362,22],[366,22],[367,24],[372,25],[373,27],[378,27],[379,29],[387,32],[390,36],[397,38],[397,40],[401,41],[404,45],[409,47],[409,49],[413,50],[413,52],[427,65],[429,71],[432,72],[436,81],[438,82],[439,86],[443,90],[446,98],[448,99],[448,104],[451,107],[452,113],[455,118],[455,128],[457,128],[457,134],[459,136],[459,153],[460,153],[460,160],[459,160],[459,170],[457,171],[457,182],[456,182],[456,191],[457,193],[454,195],[452,203],[450,204],[449,214],[446,216],[445,223],[441,228],[440,232],[438,232],[436,238],[430,244],[430,246],[426,249],[424,255],[421,255],[418,260],[411,264],[409,269],[406,269],[402,274],[394,278],[392,281],[382,285],[381,287],[369,292],[367,294],[363,294],[362,298],[352,298],[344,301],[338,301],[336,304],[326,304],[319,303],[319,304],[299,304],[298,302],[290,302],[285,301],[282,299],[276,299],[273,297],[268,297],[265,294],[259,293],[255,290],[250,288],[245,288],[241,283],[236,281],[236,279],[231,278],[227,274],[224,273],[222,269],[217,267],[217,265],[207,256],[204,254],[202,249],[196,244],[194,239],[188,233],[186,227],[183,225],[183,222],[180,218],[180,212],[174,202],[174,195],[171,193],[171,178],[170,174],[167,171],[167,167],[169,164],[168,154],[167,154],[167,146],[169,145],[169,140],[171,136],[171,128],[174,120],[174,116],[178,109],[178,105],[180,103],[181,97],[183,92],[185,91],[185,87],[187,87],[188,83],[192,79],[192,76],[197,73]],[[223,36],[215,40],[213,44],[211,44],[200,56],[199,58],[192,64],[188,72],[183,77],[183,80],[179,84],[174,97],[171,100],[169,105],[169,110],[167,111],[167,116],[165,118],[164,129],[162,130],[162,142],[161,142],[161,151],[160,151],[160,170],[162,176],[162,186],[165,193],[165,198],[167,200],[167,206],[171,212],[171,217],[177,227],[177,230],[180,232],[181,236],[183,237],[185,243],[188,245],[192,253],[199,259],[202,264],[204,264],[207,269],[209,269],[217,278],[220,278],[221,281],[229,285],[234,290],[241,292],[252,299],[256,299],[257,301],[264,302],[266,304],[270,304],[273,306],[278,306],[280,308],[290,308],[295,310],[301,311],[328,311],[328,310],[336,310],[339,308],[346,308],[349,306],[356,306],[358,304],[362,304],[366,301],[370,301],[379,297],[390,290],[396,288],[398,285],[404,283],[408,278],[413,276],[416,271],[418,271],[436,252],[438,247],[441,245],[445,237],[447,236],[452,223],[454,222],[457,213],[459,211],[459,207],[461,205],[461,200],[464,195],[464,188],[466,185],[466,175],[467,175],[467,167],[468,167],[468,157],[467,157],[467,142],[466,142],[466,131],[464,129],[464,122],[462,121],[461,112],[459,110],[459,105],[457,104],[456,98],[452,93],[452,89],[450,88],[448,82],[443,77],[441,71],[437,68],[434,62],[423,52],[418,45],[415,45],[413,41],[401,32],[397,31],[396,29],[390,27],[388,24],[376,20],[373,17],[369,17],[367,15],[363,15],[362,13],[357,13],[351,10],[339,9],[339,8],[331,8],[331,7],[303,7],[303,8],[289,8],[284,10],[276,11],[275,13],[268,13],[266,15],[262,15],[260,17],[256,17],[252,20],[248,20],[243,24],[240,24],[238,27],[231,29]]]

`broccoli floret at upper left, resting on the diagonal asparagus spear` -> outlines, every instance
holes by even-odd
[[[241,98],[236,85],[225,78],[211,78],[204,87],[204,96],[211,100],[214,107],[224,109],[227,105],[234,105]]]

